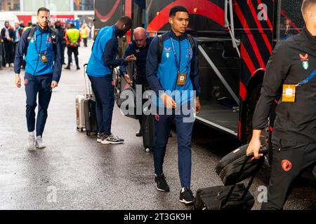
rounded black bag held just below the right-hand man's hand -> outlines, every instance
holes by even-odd
[[[251,160],[252,156],[246,155],[247,148],[248,144],[240,146],[235,151],[225,155],[225,157],[218,162],[216,173],[220,176],[220,179],[225,186],[239,183],[240,181],[253,176],[263,166],[265,157],[263,156],[256,160]],[[266,148],[261,148],[259,153],[266,155],[268,150]],[[243,170],[239,173],[242,165],[244,165]]]

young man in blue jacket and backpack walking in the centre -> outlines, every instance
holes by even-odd
[[[153,148],[154,181],[157,184],[157,190],[169,191],[162,166],[171,124],[175,120],[178,135],[178,171],[182,187],[180,202],[191,204],[194,200],[190,190],[191,137],[194,119],[186,118],[192,116],[194,111],[199,113],[201,108],[197,41],[185,33],[189,23],[189,13],[183,6],[171,8],[169,23],[171,31],[162,35],[161,57],[159,58],[159,49],[161,49],[159,38],[154,38],[150,44],[146,64],[147,81],[151,89],[159,96],[159,106],[164,106],[164,113],[166,109],[172,109],[171,115],[162,114],[159,111],[159,119],[156,119],[157,134]],[[195,45],[194,49],[192,45]],[[180,95],[177,94],[178,92]],[[190,109],[189,113],[185,113],[185,109]]]

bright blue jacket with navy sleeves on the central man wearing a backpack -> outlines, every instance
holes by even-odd
[[[178,71],[171,44],[171,38],[173,39],[178,63],[180,63],[180,73],[187,74],[185,85],[177,85]],[[192,52],[192,47],[187,39],[187,34],[176,36],[173,31],[169,31],[162,35],[162,40],[164,48],[162,51],[161,63],[158,64],[157,59],[158,38],[154,38],[150,44],[150,49],[147,54],[146,77],[150,88],[157,94],[159,94],[159,90],[169,90],[171,92],[174,90],[196,90],[196,96],[199,96],[201,90],[199,87],[199,52],[197,41],[194,40],[195,52]],[[190,57],[192,58],[187,71],[187,61],[189,59],[189,55],[191,55]],[[180,99],[176,99],[176,102],[179,100]],[[181,103],[186,102],[187,100],[190,100],[190,93],[188,94],[187,99],[181,99]]]

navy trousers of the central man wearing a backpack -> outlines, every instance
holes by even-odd
[[[155,121],[156,140],[153,147],[154,151],[154,173],[163,174],[164,155],[168,144],[169,134],[173,120],[176,122],[176,132],[178,137],[178,172],[182,188],[191,186],[191,137],[194,120],[184,122],[183,118],[193,116],[184,115],[160,115],[159,120]]]

